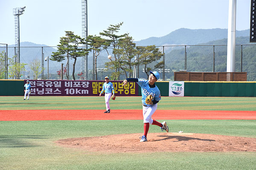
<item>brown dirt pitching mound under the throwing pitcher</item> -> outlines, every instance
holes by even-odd
[[[64,147],[91,152],[256,152],[256,138],[199,133],[148,133],[148,142],[140,142],[141,133],[70,138],[55,141]]]

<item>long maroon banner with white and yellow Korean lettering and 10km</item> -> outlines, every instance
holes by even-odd
[[[91,80],[29,80],[33,96],[99,96],[105,81]],[[137,96],[138,84],[128,82],[122,86],[122,81],[113,83],[116,96]],[[24,80],[26,84],[26,80]]]

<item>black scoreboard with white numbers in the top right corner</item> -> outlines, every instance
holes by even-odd
[[[250,42],[256,42],[256,0],[251,0]]]

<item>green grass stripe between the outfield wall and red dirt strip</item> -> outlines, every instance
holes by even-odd
[[[105,109],[105,99],[99,96],[3,96],[0,110],[44,109]],[[118,96],[110,100],[111,109],[141,109],[141,96]],[[253,97],[162,97],[161,110],[227,110],[256,111]]]

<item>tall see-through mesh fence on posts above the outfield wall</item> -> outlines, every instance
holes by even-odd
[[[149,66],[154,68],[158,62],[163,61],[163,68],[154,68],[155,71],[160,73],[161,80],[173,80],[174,72],[180,70],[186,70],[188,72],[226,72],[227,68],[227,45],[165,45],[157,46],[164,54],[163,57]],[[110,50],[110,49],[108,49]],[[17,62],[17,54],[15,54],[15,47],[6,49],[6,46],[0,46],[0,51],[8,51],[8,65],[13,62]],[[50,60],[52,52],[56,52],[57,47],[37,46],[37,47],[20,47],[20,63],[24,63],[25,68],[20,72],[19,77],[10,77],[9,68],[1,69],[1,72],[8,71],[8,79],[61,79],[60,71],[61,65],[66,68],[67,76],[64,75],[64,79],[72,79],[73,71],[73,59],[69,57],[69,61],[65,58],[61,62]],[[111,52],[110,55],[113,55]],[[6,60],[6,57],[4,57]],[[101,51],[97,56],[97,79],[104,79],[105,75],[110,76],[113,72],[105,67],[105,62],[109,62],[108,54],[106,51]],[[244,44],[236,45],[236,59],[235,59],[235,71],[247,72],[248,81],[256,81],[256,45]],[[34,71],[31,69],[33,62],[39,63],[37,68],[40,74],[35,76]],[[4,61],[3,63],[6,63]],[[2,63],[1,63],[2,65]],[[88,54],[88,80],[95,80],[95,56],[93,52]],[[3,67],[1,67],[3,68]],[[81,70],[81,57],[78,57],[75,65],[76,79],[83,79],[84,73]],[[147,79],[145,70],[142,66],[136,67],[136,77]],[[119,79],[125,79],[124,75],[121,75]],[[7,79],[2,77],[2,79]]]

